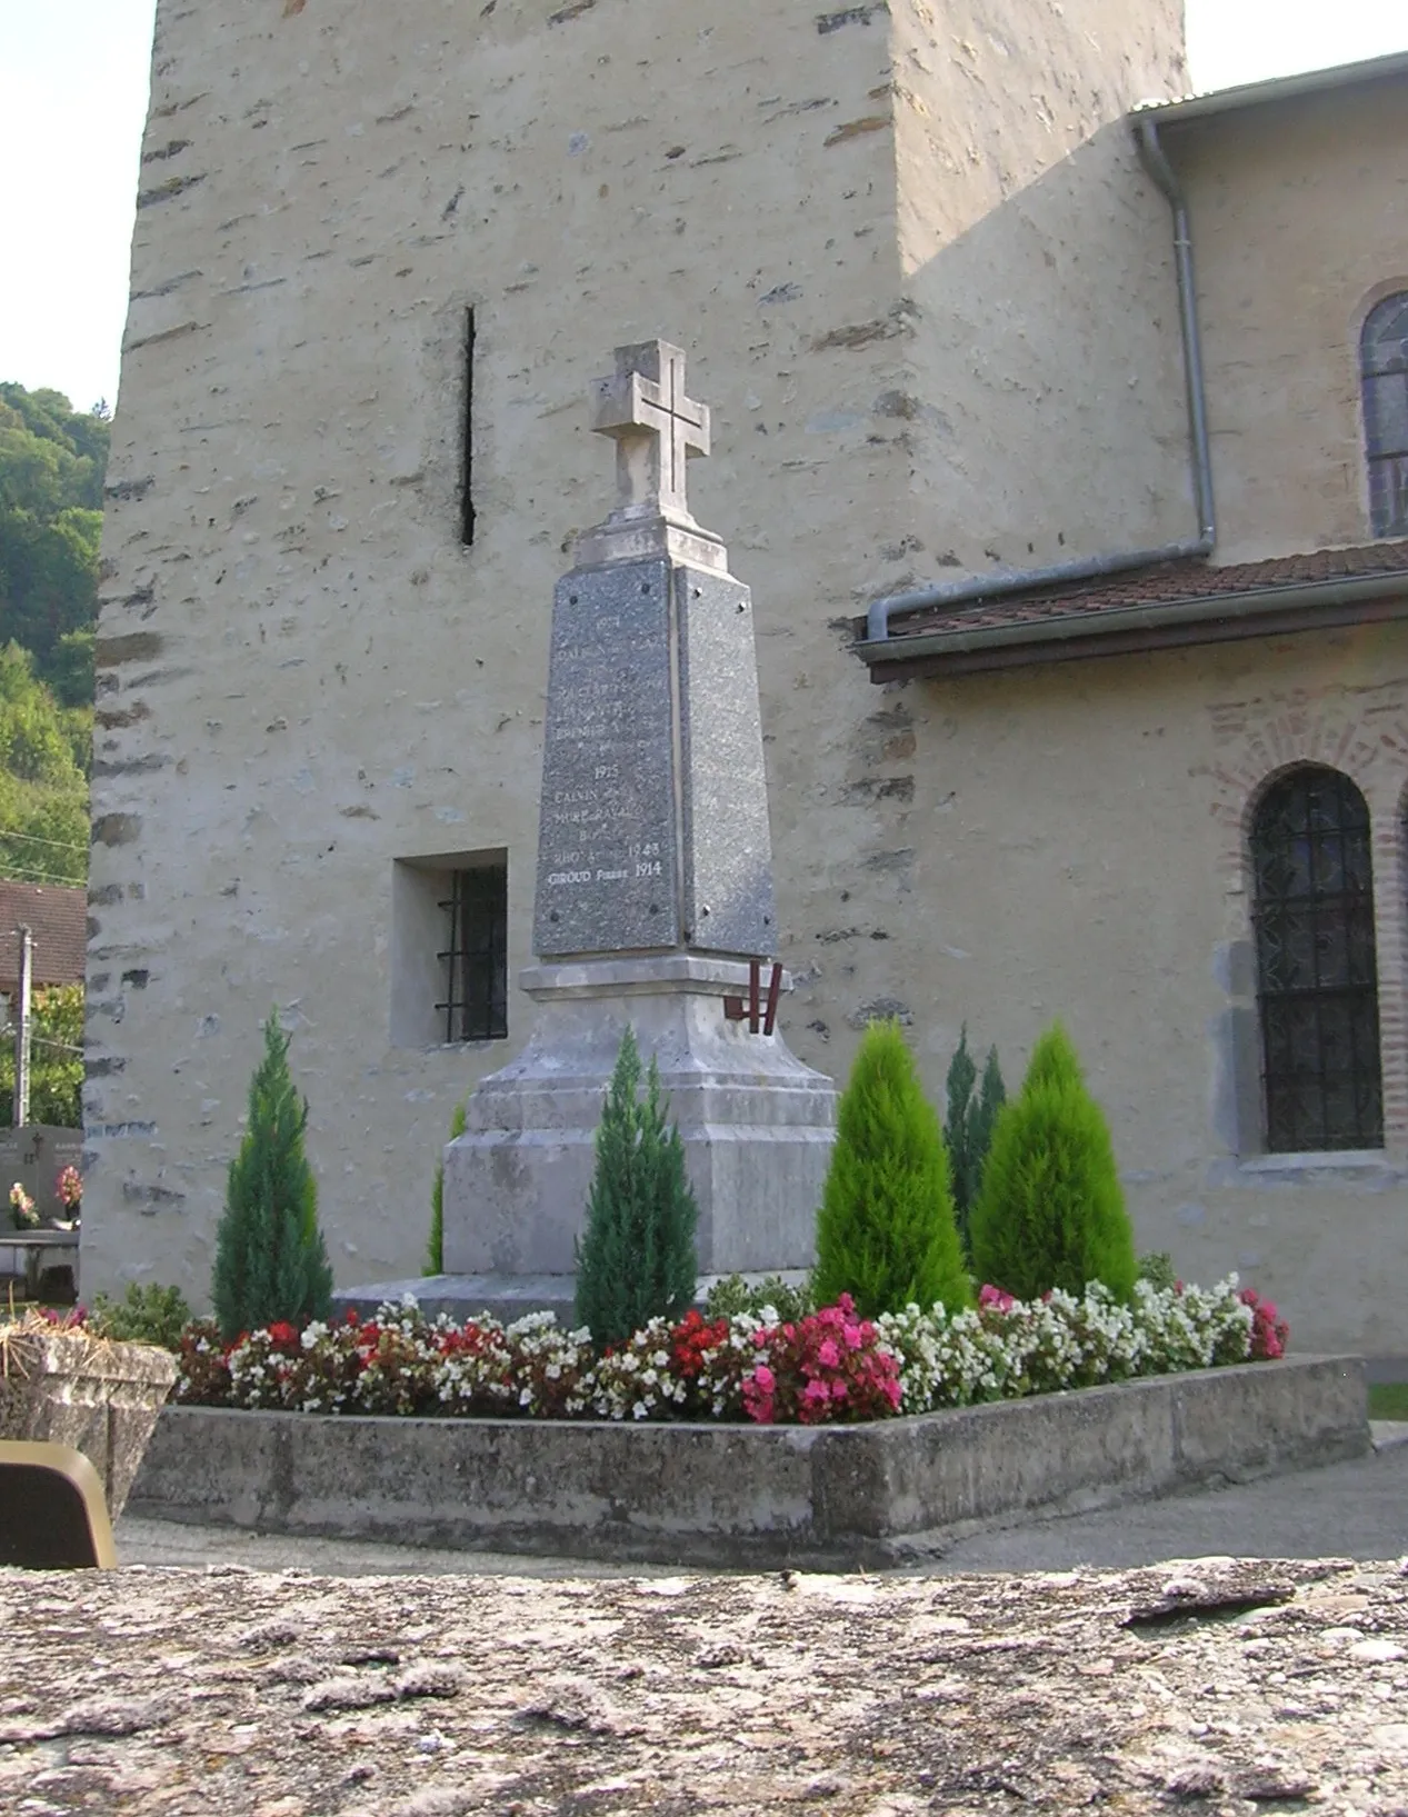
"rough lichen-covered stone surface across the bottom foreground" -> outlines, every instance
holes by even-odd
[[[1403,1564],[0,1574],[0,1808],[1408,1812]]]

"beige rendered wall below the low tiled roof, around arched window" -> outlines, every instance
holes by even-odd
[[[1010,1085],[1059,1016],[1110,1116],[1141,1250],[1237,1268],[1299,1350],[1408,1355],[1408,630],[1252,640],[887,689],[914,740],[892,976],[932,1090],[959,1027]],[[901,729],[903,727],[903,734]],[[1384,1150],[1261,1152],[1246,829],[1330,763],[1372,816]],[[832,988],[870,930],[830,948]],[[870,945],[874,952],[876,947]],[[903,979],[903,983],[901,983]]]

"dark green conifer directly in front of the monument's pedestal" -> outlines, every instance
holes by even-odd
[[[699,1208],[685,1176],[679,1128],[654,1059],[640,1099],[641,1059],[627,1025],[596,1132],[587,1226],[576,1245],[576,1319],[601,1346],[654,1317],[678,1319],[694,1299]]]

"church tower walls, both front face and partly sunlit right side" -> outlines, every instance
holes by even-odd
[[[1081,213],[1032,214],[1054,169],[1108,158],[1097,247],[1148,211],[1121,314],[1172,298],[1163,204],[1106,122],[1177,80],[1175,9],[1003,16],[162,0],[104,543],[85,1290],[203,1299],[271,1003],[338,1279],[416,1266],[451,1108],[532,1016],[511,988],[507,1047],[418,1036],[418,865],[507,854],[512,978],[552,581],[610,496],[585,396],[621,342],[681,340],[714,407],[690,498],[756,601],[790,1039],[843,1074],[896,976],[937,998],[927,707],[870,689],[852,616],[950,545],[1017,560],[1056,483],[992,492],[988,456],[954,452],[988,412],[1017,447],[1076,333],[1057,311],[1012,352],[1014,298]],[[1094,500],[1125,462],[1083,374],[1048,414]],[[1161,460],[1183,483],[1179,436],[1170,407],[1132,518]]]

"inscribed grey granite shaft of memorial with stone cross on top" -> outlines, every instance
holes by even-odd
[[[620,500],[552,609],[534,952],[770,958],[752,598],[685,507],[709,409],[669,342],[618,347],[594,402]]]

